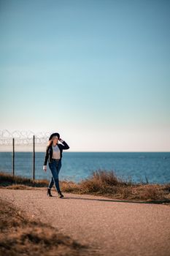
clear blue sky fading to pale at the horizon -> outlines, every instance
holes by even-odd
[[[1,129],[170,151],[170,1],[0,0]]]

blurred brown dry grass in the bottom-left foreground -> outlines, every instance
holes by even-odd
[[[4,200],[0,200],[0,211],[1,256],[97,255],[89,246],[64,236],[55,227],[28,219],[18,208]]]

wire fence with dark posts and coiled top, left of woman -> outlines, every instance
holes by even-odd
[[[0,171],[28,178],[44,178],[42,165],[53,132],[0,131]]]

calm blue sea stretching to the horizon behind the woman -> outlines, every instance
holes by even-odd
[[[49,179],[42,167],[45,152],[35,153],[35,179]],[[93,171],[112,170],[118,178],[134,183],[170,183],[170,152],[66,152],[63,151],[60,180],[76,183]],[[0,152],[0,171],[12,173],[12,152]],[[15,175],[32,178],[33,154],[15,152]]]

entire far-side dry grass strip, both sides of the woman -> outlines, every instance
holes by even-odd
[[[49,181],[32,181],[28,178],[15,177],[0,173],[1,187],[10,189],[31,189],[47,187]],[[89,178],[80,183],[60,181],[63,192],[77,194],[103,195],[122,200],[148,200],[155,203],[170,203],[169,184],[133,184],[115,176],[112,170],[98,169]]]

